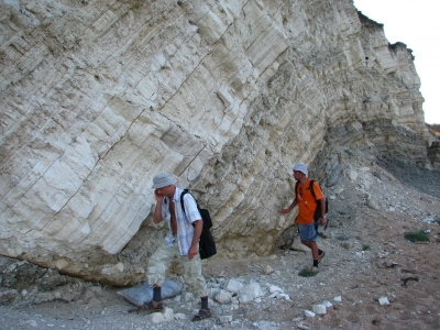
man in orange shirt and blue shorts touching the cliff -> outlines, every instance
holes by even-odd
[[[315,210],[317,208],[317,202],[321,204],[321,218],[319,221],[321,226],[326,226],[326,198],[322,194],[321,188],[318,183],[314,183],[314,191],[316,198],[310,191],[310,178],[307,177],[307,166],[302,163],[297,163],[294,166],[294,178],[297,180],[295,198],[292,205],[287,209],[280,211],[282,215],[290,212],[294,207],[298,206],[299,213],[296,221],[299,226],[299,235],[301,238],[301,243],[311,250],[311,255],[314,257],[314,265],[311,271],[318,272],[318,264],[321,258],[326,255],[326,252],[319,250],[316,242],[318,238],[318,231],[315,227]]]

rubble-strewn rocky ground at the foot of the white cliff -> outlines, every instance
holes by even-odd
[[[440,329],[439,174],[414,175],[413,182],[424,183],[418,187],[403,185],[392,173],[371,163],[365,166],[361,158],[351,158],[343,168],[339,184],[328,190],[330,226],[318,240],[327,255],[314,277],[298,275],[311,265],[310,253],[301,251],[298,240],[266,257],[206,261],[204,273],[212,293],[226,289],[231,279],[257,283],[263,292],[246,304],[237,297],[230,302],[210,299],[211,319],[190,321],[199,306],[185,287],[182,295],[165,300],[173,320],[155,322],[157,316],[129,314],[133,305],[118,295],[120,288],[33,265],[23,271],[24,262],[2,258],[0,328]],[[420,191],[426,183],[437,193]],[[419,230],[428,233],[429,242],[411,243],[405,238]],[[13,287],[18,276],[32,282]],[[270,285],[284,296],[272,297]],[[306,310],[324,300],[331,304],[326,314],[306,316]]]

